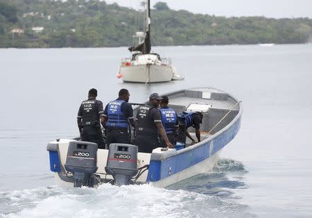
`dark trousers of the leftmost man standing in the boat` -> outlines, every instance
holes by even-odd
[[[98,149],[105,149],[101,127],[84,126],[83,133],[81,133],[81,140],[85,142],[94,142],[98,144]]]

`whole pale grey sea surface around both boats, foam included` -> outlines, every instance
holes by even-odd
[[[125,47],[0,49],[0,217],[312,217],[312,44],[154,47],[184,81],[122,83]],[[241,130],[214,171],[166,189],[62,189],[46,144],[78,135],[91,87],[150,93],[216,87],[243,101]]]

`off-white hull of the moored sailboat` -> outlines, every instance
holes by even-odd
[[[123,82],[161,83],[171,81],[173,70],[168,65],[132,65],[121,66]]]

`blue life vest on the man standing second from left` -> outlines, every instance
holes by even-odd
[[[107,123],[109,128],[128,128],[128,117],[121,112],[123,100],[110,101],[107,106]]]

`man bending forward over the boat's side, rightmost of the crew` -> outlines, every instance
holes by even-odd
[[[196,141],[191,137],[187,128],[193,126],[195,128],[195,133],[198,142],[200,142],[200,124],[202,123],[202,112],[182,112],[177,115],[177,119],[179,121],[179,134],[177,136],[178,142],[185,142],[187,141],[187,137],[192,141],[192,144],[196,144]]]

